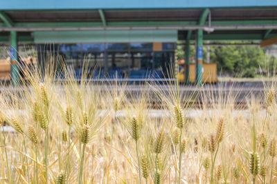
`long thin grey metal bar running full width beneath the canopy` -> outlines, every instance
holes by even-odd
[[[197,30],[208,28],[207,25],[146,25],[146,26],[45,26],[45,27],[0,27],[0,31],[54,31],[54,30]],[[268,25],[213,25],[214,30],[265,30],[277,29],[277,24]]]

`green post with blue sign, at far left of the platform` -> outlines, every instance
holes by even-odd
[[[12,79],[12,85],[19,83],[19,66],[17,65],[17,32],[10,32],[10,76]]]

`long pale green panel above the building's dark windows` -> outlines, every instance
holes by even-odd
[[[35,43],[176,42],[177,30],[37,31]]]

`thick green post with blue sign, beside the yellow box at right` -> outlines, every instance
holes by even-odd
[[[196,83],[202,85],[203,30],[197,30]]]

